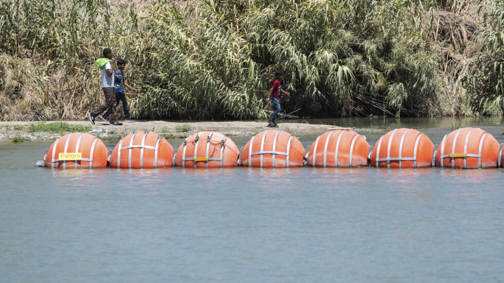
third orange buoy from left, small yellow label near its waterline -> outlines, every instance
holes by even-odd
[[[235,142],[217,131],[200,131],[186,138],[178,147],[178,167],[220,168],[238,166],[240,150]]]

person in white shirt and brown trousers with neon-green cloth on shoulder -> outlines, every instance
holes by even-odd
[[[95,117],[102,114],[106,109],[111,108],[109,123],[111,125],[120,126],[122,123],[116,120],[116,94],[114,93],[114,69],[112,69],[112,58],[114,54],[109,48],[103,49],[104,58],[96,60],[95,65],[101,69],[101,89],[105,95],[105,103],[100,105],[95,111],[89,112],[89,121],[94,125]]]

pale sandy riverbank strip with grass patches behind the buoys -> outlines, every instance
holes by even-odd
[[[220,121],[220,122],[167,122],[141,121],[123,123],[122,126],[112,126],[105,122],[96,121],[92,125],[89,121],[58,121],[58,122],[0,122],[0,140],[14,142],[24,140],[57,139],[67,133],[85,131],[101,139],[119,139],[121,135],[133,130],[148,129],[167,139],[186,138],[197,131],[215,130],[227,136],[253,136],[271,129],[267,122],[257,121]],[[341,128],[327,124],[308,123],[278,123],[278,128],[293,135],[319,135],[327,130]],[[359,133],[367,133],[370,129],[355,129]]]

